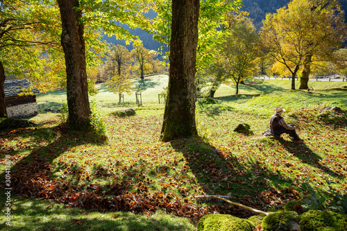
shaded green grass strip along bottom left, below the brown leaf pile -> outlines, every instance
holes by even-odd
[[[0,200],[6,201],[4,190],[0,190]],[[187,223],[180,219],[172,220],[163,212],[155,212],[149,216],[131,212],[91,212],[88,209],[66,207],[64,204],[44,202],[11,195],[12,214],[10,230],[187,230]],[[6,209],[0,204],[1,211]],[[3,214],[1,214],[3,215]],[[2,221],[7,221],[6,217]],[[5,222],[0,230],[6,230]],[[189,230],[194,230],[191,225]]]

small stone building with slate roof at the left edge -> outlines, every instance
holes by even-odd
[[[39,113],[35,96],[35,93],[39,92],[37,89],[32,89],[32,94],[19,96],[22,92],[27,93],[25,89],[31,86],[32,84],[26,78],[5,80],[5,103],[8,118],[31,117]]]

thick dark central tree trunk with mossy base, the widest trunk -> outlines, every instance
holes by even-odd
[[[168,99],[163,141],[197,135],[195,123],[196,46],[199,0],[173,0]]]

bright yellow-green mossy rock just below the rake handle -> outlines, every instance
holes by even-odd
[[[208,214],[198,221],[198,231],[252,231],[255,225],[228,214]]]

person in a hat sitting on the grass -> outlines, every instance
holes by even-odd
[[[280,137],[280,135],[286,133],[290,135],[295,141],[303,141],[303,139],[300,139],[298,134],[296,134],[296,126],[293,126],[291,124],[288,125],[285,122],[285,119],[281,117],[282,113],[285,112],[283,108],[278,107],[273,112],[275,112],[275,114],[273,114],[270,119],[270,130],[272,134]]]

